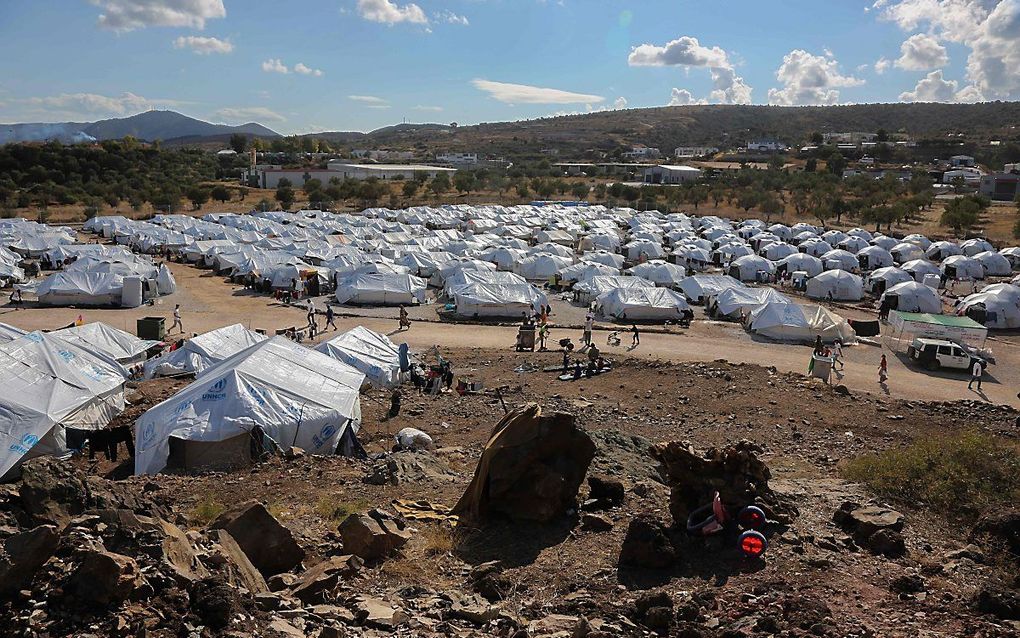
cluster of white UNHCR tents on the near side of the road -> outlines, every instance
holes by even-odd
[[[125,405],[126,366],[154,345],[99,323],[52,333],[0,325],[0,476],[28,458],[66,453],[68,429],[108,427]],[[165,468],[171,439],[185,457],[243,453],[238,437],[256,428],[280,448],[334,453],[359,427],[362,386],[399,385],[406,364],[406,352],[361,327],[315,350],[241,326],[200,335],[146,365],[150,377],[196,381],[139,420],[136,472]]]

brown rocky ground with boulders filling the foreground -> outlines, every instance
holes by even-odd
[[[502,411],[491,399],[411,397],[406,409],[417,413],[401,418],[408,423],[430,423],[439,410],[453,432],[472,421],[490,426],[474,438],[450,437],[460,445],[365,461],[293,450],[251,471],[111,481],[82,463],[34,459],[18,482],[0,486],[0,635],[1020,632],[1020,512],[962,526],[909,503],[890,506],[832,471],[844,452],[824,445],[824,430],[812,424],[822,419],[804,409],[812,403],[790,408],[804,416],[795,424],[770,412],[785,401],[746,408],[734,396],[726,413],[704,401],[734,386],[754,390],[760,369],[686,372],[675,383],[704,411],[687,410],[686,432],[662,426],[668,442],[659,444],[636,434],[648,434],[656,416],[626,414],[611,395],[630,390],[610,380],[591,383],[583,404],[546,399],[582,418],[523,408],[516,422],[504,420],[502,439],[490,438],[499,434],[492,414]],[[787,399],[822,397],[826,414],[865,419],[875,432],[854,439],[858,452],[887,446],[895,437],[886,429],[900,436],[903,421],[933,428],[935,412],[952,420],[976,409],[762,379]],[[645,387],[670,395],[669,383]],[[657,401],[670,410],[681,403]],[[978,413],[1001,432],[1016,418]],[[617,427],[596,429],[594,420]],[[742,442],[745,421],[786,424],[784,443],[771,435]],[[685,442],[718,436],[720,424],[735,440]],[[850,427],[865,431],[860,422]],[[767,512],[763,558],[744,557],[726,534],[685,533],[690,511],[715,491],[730,509],[754,503]],[[220,506],[199,511],[213,501]]]

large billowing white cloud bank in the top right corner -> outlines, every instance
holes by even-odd
[[[968,100],[1020,98],[1020,0],[891,0],[876,6],[883,19],[905,31],[926,27],[940,40],[970,48]]]

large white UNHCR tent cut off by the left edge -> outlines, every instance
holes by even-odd
[[[64,451],[64,429],[99,430],[124,408],[128,373],[39,332],[0,344],[0,476]]]

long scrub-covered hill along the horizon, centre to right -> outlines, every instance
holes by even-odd
[[[463,150],[519,155],[555,149],[563,158],[588,151],[612,151],[644,144],[671,153],[676,146],[725,147],[754,138],[777,138],[789,144],[813,132],[904,133],[914,139],[948,139],[963,134],[970,141],[1016,140],[1020,102],[983,104],[858,104],[849,106],[700,105],[640,108],[520,121],[447,127],[387,127],[351,139],[351,134],[316,134],[341,144]]]

